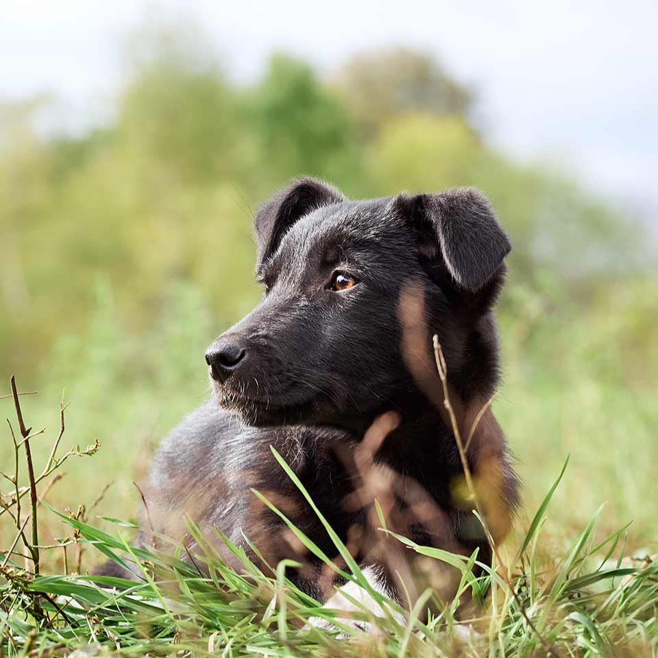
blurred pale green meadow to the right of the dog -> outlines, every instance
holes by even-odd
[[[559,282],[538,295],[520,284],[500,315],[504,384],[496,416],[520,461],[528,502],[546,489],[544,467],[572,455],[559,491],[561,528],[583,522],[607,501],[602,523],[633,521],[637,544],[658,539],[646,483],[658,459],[653,278],[622,280],[596,299],[565,299]],[[559,528],[553,528],[559,532]],[[645,545],[646,545],[645,544]]]

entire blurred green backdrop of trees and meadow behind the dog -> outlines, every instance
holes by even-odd
[[[583,446],[585,472],[585,455],[613,443],[606,468],[622,479],[622,459],[639,473],[655,463],[650,240],[568,174],[491,149],[470,118],[474,90],[406,50],[358,56],[328,80],[279,53],[241,85],[175,31],[138,45],[102,128],[46,137],[46,98],[0,106],[3,377],[47,382],[48,409],[66,385],[84,435],[159,436],[206,393],[205,345],[260,296],[251,217],[275,188],[302,174],[358,197],[476,185],[513,240],[498,404],[545,478],[537,490],[556,475],[533,470],[551,450],[557,464]],[[636,494],[620,493],[624,513]]]

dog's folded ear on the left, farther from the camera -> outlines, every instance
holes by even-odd
[[[315,178],[294,180],[256,212],[254,229],[258,246],[258,264],[276,252],[281,239],[295,221],[311,210],[345,201],[330,184]]]

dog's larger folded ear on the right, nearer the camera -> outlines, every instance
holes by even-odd
[[[439,252],[458,287],[476,292],[501,269],[511,250],[487,199],[473,188],[439,194],[400,195],[395,202],[411,218],[419,248]]]

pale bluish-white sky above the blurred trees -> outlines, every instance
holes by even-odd
[[[125,36],[154,21],[202,26],[239,80],[273,49],[322,73],[356,51],[431,51],[478,89],[493,146],[555,162],[658,227],[658,0],[3,0],[0,99],[48,90],[67,125],[102,121]]]

